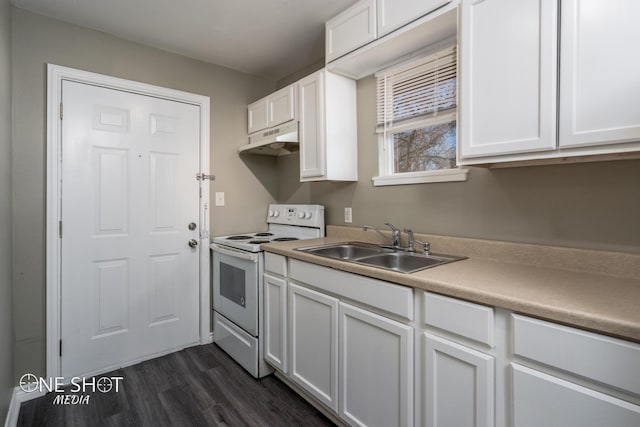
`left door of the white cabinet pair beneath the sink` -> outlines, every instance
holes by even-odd
[[[289,284],[290,378],[338,411],[338,300]]]

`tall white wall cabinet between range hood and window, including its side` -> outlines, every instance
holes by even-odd
[[[357,181],[356,82],[323,69],[298,85],[300,181]]]

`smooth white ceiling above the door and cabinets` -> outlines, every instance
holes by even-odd
[[[324,57],[324,22],[356,0],[13,0],[61,21],[257,76]]]

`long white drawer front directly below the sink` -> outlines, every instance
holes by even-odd
[[[291,278],[413,320],[413,289],[292,259]]]

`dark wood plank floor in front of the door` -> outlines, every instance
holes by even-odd
[[[88,405],[25,402],[19,426],[332,426],[273,375],[256,380],[214,344],[188,348],[105,374],[118,393]],[[68,393],[72,394],[72,393]]]

